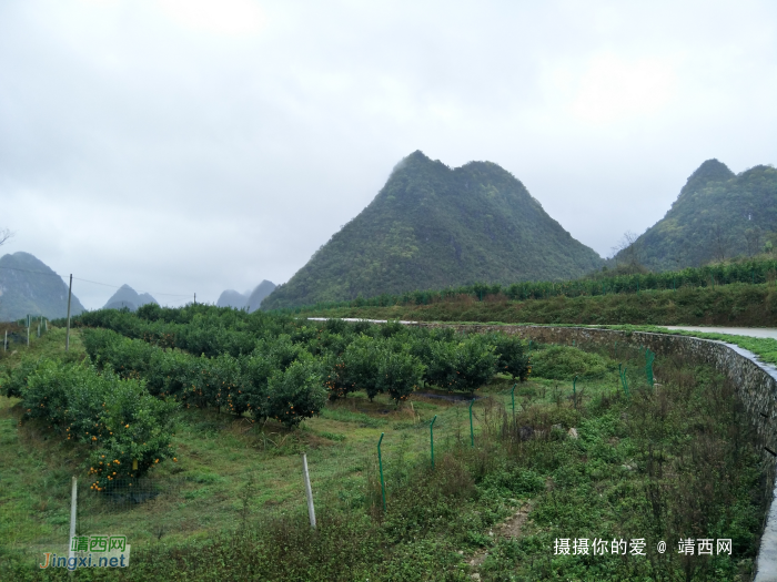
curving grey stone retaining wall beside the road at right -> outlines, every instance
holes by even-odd
[[[773,491],[760,549],[756,562],[756,582],[777,582],[777,490],[774,489],[777,469],[777,368],[758,361],[755,354],[733,344],[690,336],[618,331],[587,327],[495,326],[416,324],[422,327],[452,327],[460,331],[484,334],[502,331],[534,339],[543,344],[599,345],[628,344],[646,346],[657,356],[679,354],[692,361],[707,364],[726,375],[736,386],[759,438],[764,456],[767,487]]]

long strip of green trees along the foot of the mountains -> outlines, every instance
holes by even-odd
[[[356,297],[350,302],[325,302],[315,305],[278,309],[274,313],[295,314],[320,312],[342,307],[390,307],[393,305],[428,305],[455,298],[472,297],[484,300],[488,297],[504,297],[522,302],[527,299],[547,299],[549,297],[583,297],[639,293],[654,289],[679,289],[680,287],[716,287],[734,283],[760,284],[777,277],[777,261],[750,259],[737,263],[722,263],[704,267],[687,267],[682,270],[647,273],[635,275],[609,275],[597,273],[582,279],[565,282],[525,282],[512,285],[488,285],[475,283],[461,287],[438,290],[416,290],[402,295],[379,295],[376,297]]]

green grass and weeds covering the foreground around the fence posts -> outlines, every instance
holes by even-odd
[[[52,331],[31,351],[54,355],[59,339]],[[72,339],[77,357],[78,333]],[[546,376],[565,378],[571,361],[589,360],[576,348],[562,355],[545,358]],[[512,384],[496,378],[473,405],[474,448],[468,402],[418,395],[397,410],[384,396],[371,402],[357,392],[292,432],[272,421],[182,410],[179,460],[152,474],[163,494],[131,508],[82,494],[80,530],[128,535],[131,568],[74,578],[464,581],[477,572],[484,581],[747,580],[764,491],[734,388],[707,368],[663,358],[663,386],[653,390],[636,350],[623,356],[630,359],[630,399],[617,363],[601,353],[574,395],[564,379],[519,385],[515,420]],[[20,427],[17,405],[0,398],[0,579],[64,580],[34,563],[43,551],[64,551],[70,478],[85,481],[83,451],[49,438],[46,427]],[[302,451],[315,533],[306,524]],[[649,548],[665,539],[674,548],[679,537],[705,535],[733,538],[734,559],[553,553],[558,538],[646,538]]]

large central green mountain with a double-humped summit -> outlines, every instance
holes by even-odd
[[[414,152],[262,308],[475,282],[561,280],[602,265],[509,172],[491,162],[451,169]]]

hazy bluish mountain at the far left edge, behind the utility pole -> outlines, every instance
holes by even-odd
[[[83,305],[75,295],[70,314],[79,315]],[[27,315],[50,319],[68,315],[68,285],[44,263],[29,253],[13,253],[0,258],[0,320],[10,321]]]

